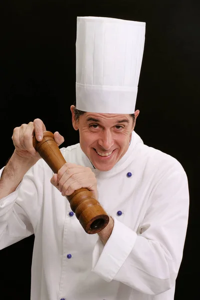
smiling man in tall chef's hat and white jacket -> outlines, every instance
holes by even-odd
[[[80,142],[61,147],[53,174],[32,145],[41,119],[13,130],[0,175],[0,248],[35,235],[31,300],[173,300],[188,224],[189,188],[177,159],[134,131],[145,23],[77,17]],[[56,131],[58,145],[63,137]],[[66,195],[88,188],[109,215],[88,234]]]

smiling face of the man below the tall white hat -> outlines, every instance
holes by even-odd
[[[85,112],[75,121],[73,109],[71,111],[73,127],[79,130],[82,151],[95,168],[101,171],[110,170],[129,147],[134,129],[132,116]]]

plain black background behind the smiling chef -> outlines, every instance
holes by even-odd
[[[0,167],[13,128],[41,118],[62,146],[78,142],[75,100],[77,16],[146,22],[135,131],[176,157],[190,188],[190,215],[175,299],[199,298],[200,5],[181,0],[4,0],[0,4]],[[0,299],[29,299],[34,236],[0,250]],[[124,299],[122,299],[124,300]]]

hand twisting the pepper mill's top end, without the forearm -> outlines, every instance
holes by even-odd
[[[43,131],[46,127],[41,119],[36,118],[33,122],[22,124],[20,127],[15,127],[12,134],[12,141],[15,147],[15,153],[22,158],[28,158],[36,162],[41,157],[33,147],[33,136],[35,135],[38,141],[43,138]],[[58,146],[63,143],[64,137],[56,131],[54,133],[55,142]]]

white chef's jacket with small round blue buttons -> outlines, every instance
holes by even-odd
[[[31,300],[174,299],[189,214],[182,165],[144,145],[136,132],[109,171],[95,169],[79,143],[61,152],[66,161],[92,168],[114,228],[105,245],[86,233],[40,159],[0,200],[0,248],[35,234]]]

